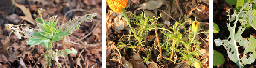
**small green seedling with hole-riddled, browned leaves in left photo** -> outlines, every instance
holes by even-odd
[[[5,24],[6,30],[13,32],[19,39],[21,37],[28,38],[29,41],[26,41],[27,44],[33,45],[44,45],[47,52],[44,55],[43,60],[48,60],[48,67],[50,66],[51,59],[56,61],[58,68],[61,68],[61,64],[58,63],[58,57],[60,54],[76,54],[77,51],[74,48],[65,49],[64,51],[55,52],[52,50],[52,44],[54,41],[59,41],[62,38],[71,35],[73,32],[79,29],[82,22],[91,22],[93,17],[98,15],[97,13],[86,14],[84,16],[76,16],[73,19],[70,19],[65,24],[61,26],[56,26],[58,22],[58,15],[52,16],[49,18],[49,22],[44,21],[42,14],[39,10],[45,11],[44,9],[38,9],[38,14],[40,18],[36,18],[35,22],[39,29],[34,29],[27,27],[26,24],[14,25],[14,24]],[[57,18],[57,20],[56,20]],[[56,21],[55,21],[56,20]],[[64,30],[62,28],[64,27]]]

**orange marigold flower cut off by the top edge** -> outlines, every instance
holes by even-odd
[[[115,13],[119,13],[122,11],[122,8],[126,7],[128,0],[106,0],[106,2],[111,10]]]

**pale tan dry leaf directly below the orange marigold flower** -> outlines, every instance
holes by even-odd
[[[115,32],[119,32],[120,30],[123,30],[127,26],[128,26],[128,24],[127,24],[127,22],[125,22],[125,18],[122,17],[122,15],[116,16],[116,18],[114,19]]]

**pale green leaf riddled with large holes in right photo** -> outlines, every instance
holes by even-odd
[[[243,9],[247,8],[247,11],[244,11]],[[244,65],[246,64],[251,64],[254,62],[254,57],[253,54],[249,54],[250,57],[246,57],[243,56],[240,59],[240,54],[238,51],[239,47],[244,47],[245,50],[242,53],[242,55],[246,55],[248,52],[250,52],[249,50],[249,41],[247,41],[247,39],[244,39],[241,34],[244,32],[245,27],[239,26],[238,27],[238,31],[236,31],[236,24],[239,21],[241,23],[241,25],[243,24],[250,24],[252,22],[253,19],[253,11],[251,10],[252,8],[252,4],[251,3],[244,3],[243,7],[240,9],[240,12],[237,13],[236,10],[234,11],[234,14],[230,15],[229,11],[230,9],[228,9],[228,14],[227,16],[229,16],[229,19],[227,21],[227,27],[228,30],[230,31],[230,35],[227,39],[224,40],[220,40],[220,39],[215,39],[215,43],[216,46],[220,46],[222,45],[225,49],[227,49],[227,54],[230,60],[232,60],[233,62],[236,63],[236,65],[239,66],[239,68],[243,68]],[[241,19],[247,17],[248,19]],[[234,26],[231,27],[230,23],[233,23]],[[236,43],[239,43],[236,44]]]

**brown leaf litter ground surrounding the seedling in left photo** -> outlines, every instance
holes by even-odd
[[[43,45],[30,46],[28,39],[18,39],[4,27],[8,24],[27,24],[37,28],[34,19],[40,17],[38,8],[43,8],[43,19],[58,15],[58,24],[75,16],[99,13],[92,22],[80,24],[72,35],[54,42],[54,50],[75,48],[77,54],[61,55],[59,62],[65,68],[102,67],[102,0],[1,0],[0,3],[0,67],[1,68],[42,68]],[[79,8],[79,9],[78,9]],[[82,10],[81,10],[82,9]],[[75,10],[75,11],[74,11]],[[78,11],[81,10],[81,11]],[[65,16],[64,14],[70,12]],[[81,39],[81,41],[78,41]],[[55,68],[52,60],[52,68]]]

